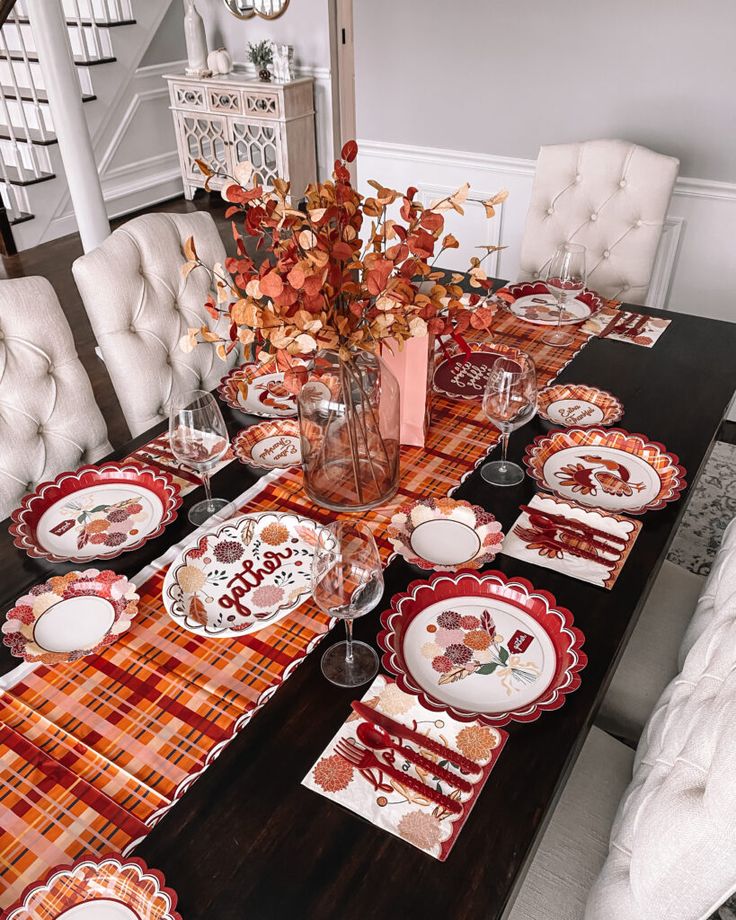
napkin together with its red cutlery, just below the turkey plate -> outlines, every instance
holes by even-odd
[[[602,588],[610,590],[614,586],[639,536],[642,526],[639,521],[621,514],[583,508],[551,495],[535,495],[529,508],[579,522],[601,534],[610,534],[614,539],[609,542],[604,536],[576,534],[570,529],[564,542],[570,545],[571,551],[566,551],[560,546],[560,531],[554,525],[545,526],[541,517],[533,522],[530,512],[523,511],[504,537],[502,553]]]

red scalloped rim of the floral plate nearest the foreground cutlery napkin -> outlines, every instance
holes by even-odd
[[[480,713],[465,712],[463,710],[454,709],[452,706],[447,706],[441,701],[435,700],[433,697],[429,696],[421,687],[415,687],[413,683],[407,679],[407,671],[406,668],[403,667],[403,655],[400,649],[394,648],[391,641],[392,638],[397,635],[391,625],[391,618],[400,613],[400,604],[406,599],[414,599],[421,588],[434,588],[437,581],[459,582],[465,578],[470,578],[476,583],[489,580],[502,586],[512,585],[519,587],[527,595],[540,598],[546,605],[548,613],[559,615],[562,620],[560,634],[566,630],[573,639],[572,644],[562,650],[563,653],[571,659],[571,663],[564,670],[564,674],[568,678],[568,683],[564,686],[555,687],[554,690],[551,691],[552,697],[550,699],[534,700],[521,711],[512,710],[498,716],[486,716]],[[406,591],[394,594],[391,598],[391,606],[381,614],[382,628],[378,634],[377,641],[384,651],[384,654],[381,656],[381,664],[385,670],[395,677],[396,683],[401,690],[411,696],[417,697],[422,706],[425,706],[432,712],[447,713],[452,718],[457,719],[458,722],[473,722],[477,720],[484,725],[503,728],[503,726],[508,725],[510,722],[535,722],[543,712],[552,712],[555,709],[559,709],[564,704],[567,695],[573,693],[580,687],[580,671],[587,665],[588,656],[582,650],[585,636],[572,624],[573,616],[570,610],[568,610],[567,607],[560,606],[555,600],[554,595],[549,591],[535,588],[526,578],[507,578],[503,572],[499,572],[496,569],[490,569],[482,573],[469,570],[463,570],[461,572],[438,572],[436,575],[432,576],[432,578],[412,581],[408,585]],[[553,644],[555,644],[555,648],[557,648],[557,644],[554,643],[554,640]],[[399,659],[399,665],[394,661],[395,658]],[[550,689],[548,688],[545,693],[550,693]]]

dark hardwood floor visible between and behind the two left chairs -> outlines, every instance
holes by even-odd
[[[190,211],[209,211],[215,219],[228,252],[230,252],[232,249],[232,233],[230,231],[230,222],[224,218],[225,208],[226,204],[219,193],[208,195],[200,192],[194,201],[187,201],[184,197],[164,201],[161,204],[145,208],[143,211],[119,217],[112,221],[112,226],[113,228],[119,227],[139,214],[154,211],[170,211],[177,214],[185,214]],[[50,243],[35,246],[33,249],[26,249],[15,256],[2,256],[0,279],[41,275],[51,282],[74,333],[79,357],[92,381],[97,402],[107,422],[110,441],[113,447],[117,448],[130,440],[130,432],[120,411],[120,405],[105,365],[95,354],[95,345],[97,343],[72,276],[72,263],[81,255],[82,243],[79,234],[72,233],[58,240],[52,240]]]

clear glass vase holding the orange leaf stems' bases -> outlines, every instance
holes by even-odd
[[[333,511],[390,501],[399,486],[399,384],[376,355],[320,351],[297,398],[307,495]]]

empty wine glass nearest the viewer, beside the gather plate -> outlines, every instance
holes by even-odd
[[[378,655],[353,640],[353,620],[373,610],[383,594],[376,541],[361,523],[336,521],[320,531],[312,560],[312,597],[325,613],[345,620],[345,642],[322,656],[322,673],[338,687],[358,687],[378,673]]]

